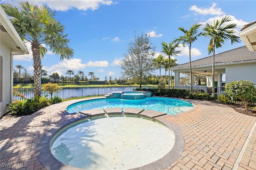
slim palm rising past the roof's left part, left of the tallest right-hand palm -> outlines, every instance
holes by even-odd
[[[190,67],[190,85],[191,85],[191,92],[193,89],[193,82],[192,82],[192,69],[191,69],[191,44],[197,40],[199,36],[202,36],[203,32],[198,33],[198,28],[200,28],[202,24],[194,24],[189,30],[185,30],[183,27],[179,27],[178,30],[184,33],[184,36],[180,36],[176,38],[175,42],[182,42],[183,47],[185,44],[189,46],[189,67]]]

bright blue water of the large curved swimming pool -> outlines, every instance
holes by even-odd
[[[103,108],[137,108],[147,109],[153,111],[159,111],[167,113],[169,115],[175,115],[189,110],[193,105],[190,102],[182,101],[179,99],[164,98],[164,97],[147,97],[140,100],[124,100],[124,99],[92,99],[74,103],[68,106],[67,111],[69,113],[76,113],[79,111],[91,110],[91,109],[103,109]],[[178,108],[186,109],[178,109]],[[189,107],[189,108],[188,108]]]

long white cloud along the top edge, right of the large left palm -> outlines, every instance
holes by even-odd
[[[67,11],[72,8],[78,10],[97,10],[100,5],[112,5],[111,0],[37,0],[37,4],[46,4],[52,10]]]

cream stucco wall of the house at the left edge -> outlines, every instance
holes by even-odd
[[[2,95],[2,101],[0,101],[0,116],[6,113],[6,105],[10,103],[11,99],[11,49],[2,40],[0,42],[0,55],[2,57],[2,63],[0,71],[0,78],[2,79],[2,86],[0,86],[0,93]]]

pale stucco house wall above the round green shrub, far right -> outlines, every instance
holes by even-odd
[[[248,80],[256,84],[256,62],[226,66],[226,83],[239,80]]]

